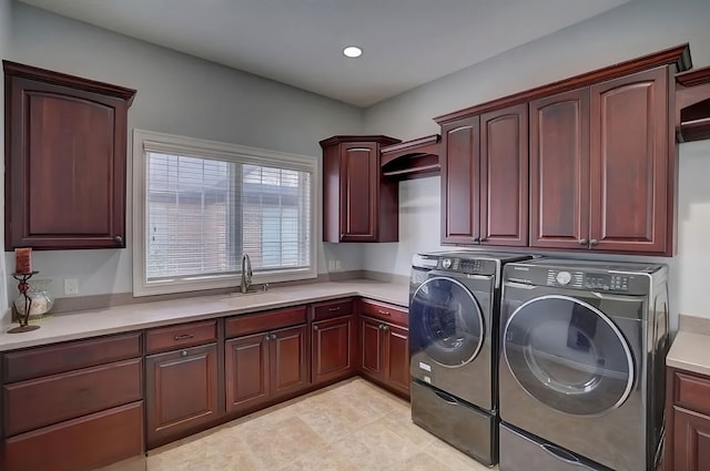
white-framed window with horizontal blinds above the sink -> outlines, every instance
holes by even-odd
[[[314,278],[316,162],[135,130],[135,296]]]

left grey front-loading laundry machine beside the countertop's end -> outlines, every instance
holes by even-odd
[[[478,461],[498,459],[500,270],[529,255],[415,255],[409,298],[412,419]]]

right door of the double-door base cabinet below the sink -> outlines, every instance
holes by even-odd
[[[271,398],[308,386],[307,331],[306,326],[300,326],[271,332]]]

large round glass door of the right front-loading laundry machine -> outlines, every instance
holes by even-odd
[[[571,297],[541,296],[518,307],[506,324],[503,350],[530,396],[575,416],[621,406],[633,386],[633,360],[620,330]]]

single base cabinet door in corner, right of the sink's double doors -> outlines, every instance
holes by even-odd
[[[313,322],[311,355],[313,382],[351,376],[355,369],[355,316]]]

